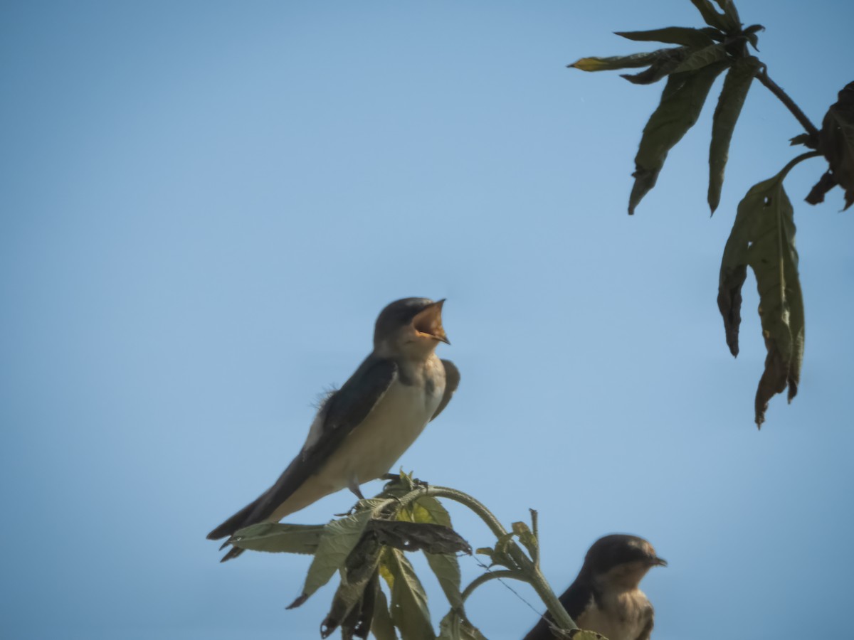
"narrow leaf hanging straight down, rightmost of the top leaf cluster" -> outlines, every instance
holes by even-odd
[[[723,173],[729,157],[729,143],[733,137],[735,123],[744,106],[747,91],[761,63],[749,55],[738,58],[723,80],[721,96],[717,100],[715,115],[711,121],[711,146],[709,147],[709,207],[714,213],[721,202]]]

